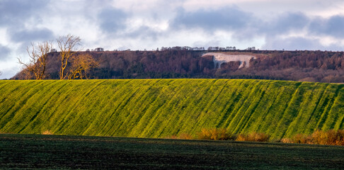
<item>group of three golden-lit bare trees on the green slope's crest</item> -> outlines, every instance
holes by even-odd
[[[74,35],[59,36],[56,39],[59,52],[54,60],[59,61],[59,79],[88,79],[88,72],[98,67],[93,57],[86,53],[79,53],[82,49],[81,39]],[[46,79],[50,78],[47,74],[47,62],[52,53],[57,50],[53,47],[53,40],[31,42],[27,47],[29,62],[23,62],[18,58],[18,62],[23,65],[21,79]]]

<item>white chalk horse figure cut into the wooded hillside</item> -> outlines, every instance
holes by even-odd
[[[215,65],[219,63],[219,67],[224,62],[240,62],[238,69],[243,68],[244,62],[246,68],[250,67],[250,60],[252,58],[256,59],[256,57],[254,57],[253,55],[227,55],[221,52],[207,52],[202,55],[202,57],[204,56],[214,56],[213,62]]]

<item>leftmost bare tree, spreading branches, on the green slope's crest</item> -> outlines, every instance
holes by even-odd
[[[29,62],[25,63],[21,58],[17,58],[19,64],[23,65],[23,71],[26,72],[25,74],[30,76],[25,76],[26,79],[30,79],[31,75],[35,77],[35,79],[45,79],[45,66],[47,61],[47,55],[52,50],[52,41],[44,41],[42,43],[35,43],[31,42],[31,48],[27,47],[26,51],[29,55]]]

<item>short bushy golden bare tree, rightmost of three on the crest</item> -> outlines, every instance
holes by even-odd
[[[88,72],[98,67],[98,62],[90,54],[74,55],[71,57],[68,79],[88,79]]]

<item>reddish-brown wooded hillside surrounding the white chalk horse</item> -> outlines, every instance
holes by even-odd
[[[250,67],[240,62],[216,66],[213,57],[201,57],[209,50],[87,51],[98,62],[88,79],[280,79],[295,81],[344,82],[344,53],[329,51],[215,50],[258,56]],[[47,77],[59,79],[59,52],[47,57]],[[12,79],[24,79],[19,72]]]

